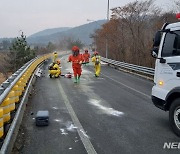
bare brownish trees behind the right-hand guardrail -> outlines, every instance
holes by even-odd
[[[180,2],[175,1],[180,11]],[[163,12],[152,0],[134,1],[111,9],[111,19],[93,34],[97,50],[102,56],[127,63],[154,67],[150,56],[153,37],[165,22],[176,22],[175,9]]]

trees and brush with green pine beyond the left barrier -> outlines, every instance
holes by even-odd
[[[22,32],[20,37],[12,41],[3,40],[0,43],[0,73],[7,79],[9,74],[18,70],[37,55],[50,53],[56,50],[70,50],[74,45],[80,48],[84,46],[80,40],[74,40],[69,37],[62,39],[56,44],[49,42],[47,45],[29,45],[26,41],[26,36]]]

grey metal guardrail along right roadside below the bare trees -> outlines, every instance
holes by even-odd
[[[120,62],[120,61],[116,61],[116,60],[112,60],[112,59],[107,59],[107,58],[104,58],[104,57],[101,57],[101,60],[103,62],[106,62],[106,63],[111,64],[113,66],[117,66],[117,67],[127,69],[127,70],[130,70],[130,71],[135,71],[135,72],[138,72],[138,73],[143,73],[145,75],[154,76],[154,69],[153,68],[134,65],[134,64],[129,64],[129,63],[125,63],[125,62]]]

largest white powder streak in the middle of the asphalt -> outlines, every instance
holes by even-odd
[[[109,107],[101,105],[100,100],[90,99],[88,102],[91,103],[92,105],[96,106],[98,109],[100,109],[105,114],[114,115],[117,117],[124,115],[123,112],[120,112],[120,111],[114,110],[113,108],[109,108]]]

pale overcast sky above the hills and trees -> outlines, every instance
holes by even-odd
[[[109,0],[110,8],[135,0]],[[143,1],[143,0],[142,0]],[[155,0],[168,10],[174,0]],[[75,27],[107,18],[108,0],[0,0],[0,38],[29,36],[49,28]]]

